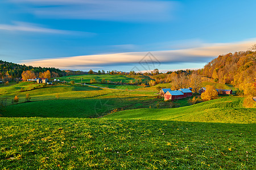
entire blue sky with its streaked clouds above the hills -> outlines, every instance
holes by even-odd
[[[0,59],[72,70],[200,68],[256,43],[255,7],[254,0],[2,0]]]

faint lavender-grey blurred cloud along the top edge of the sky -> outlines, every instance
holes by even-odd
[[[173,18],[175,1],[146,0],[9,0],[37,16],[61,19],[94,19],[159,22]]]

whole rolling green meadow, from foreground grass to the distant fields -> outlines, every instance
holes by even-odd
[[[98,75],[84,75],[89,81],[93,76]],[[137,79],[118,75],[115,81],[121,77]],[[0,87],[0,169],[255,167],[256,108],[243,107],[242,96],[194,105],[188,102],[192,97],[164,101],[157,87],[168,85]]]

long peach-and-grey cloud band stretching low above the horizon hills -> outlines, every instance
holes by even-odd
[[[148,65],[174,64],[174,63],[207,63],[220,54],[247,50],[256,40],[248,40],[233,43],[214,43],[204,44],[197,48],[165,50],[151,52],[152,56],[146,55],[147,52],[130,52],[115,54],[99,54],[90,56],[75,56],[62,58],[48,58],[38,61],[23,61],[26,65],[57,67],[59,69],[88,70],[105,66],[127,66],[141,65],[144,70],[151,70],[154,67]],[[153,56],[154,55],[154,56]],[[23,64],[22,63],[22,64]],[[146,66],[145,66],[146,65]],[[160,68],[159,68],[160,69]]]

